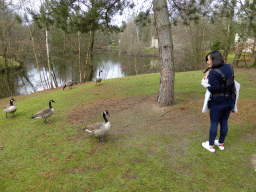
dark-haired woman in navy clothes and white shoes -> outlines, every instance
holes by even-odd
[[[208,90],[212,95],[209,103],[211,127],[209,141],[203,142],[202,146],[210,152],[215,152],[214,144],[220,150],[224,150],[224,141],[228,133],[228,118],[235,105],[234,70],[231,65],[224,64],[223,57],[219,51],[208,53],[206,62],[212,68],[208,76],[208,83],[210,84]],[[215,140],[219,123],[220,138]]]

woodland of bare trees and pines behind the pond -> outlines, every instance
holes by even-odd
[[[0,2],[0,68],[7,79],[11,70],[36,59],[38,69],[48,68],[50,87],[57,87],[51,63],[51,56],[56,54],[77,55],[80,82],[92,79],[95,50],[112,47],[130,55],[158,56],[158,49],[151,45],[152,39],[157,39],[151,7],[134,11],[122,26],[117,26],[111,19],[127,7],[135,10],[132,1],[90,0],[76,4],[75,0],[45,0],[40,10],[31,10],[25,2],[19,1],[20,6],[12,1]],[[241,58],[247,67],[256,66],[255,0],[167,2],[175,68],[203,68],[210,50],[221,50],[225,60],[234,54],[233,66],[239,66]],[[235,42],[236,34],[240,38]],[[248,38],[254,42],[248,42]],[[242,54],[245,48],[249,52]]]

